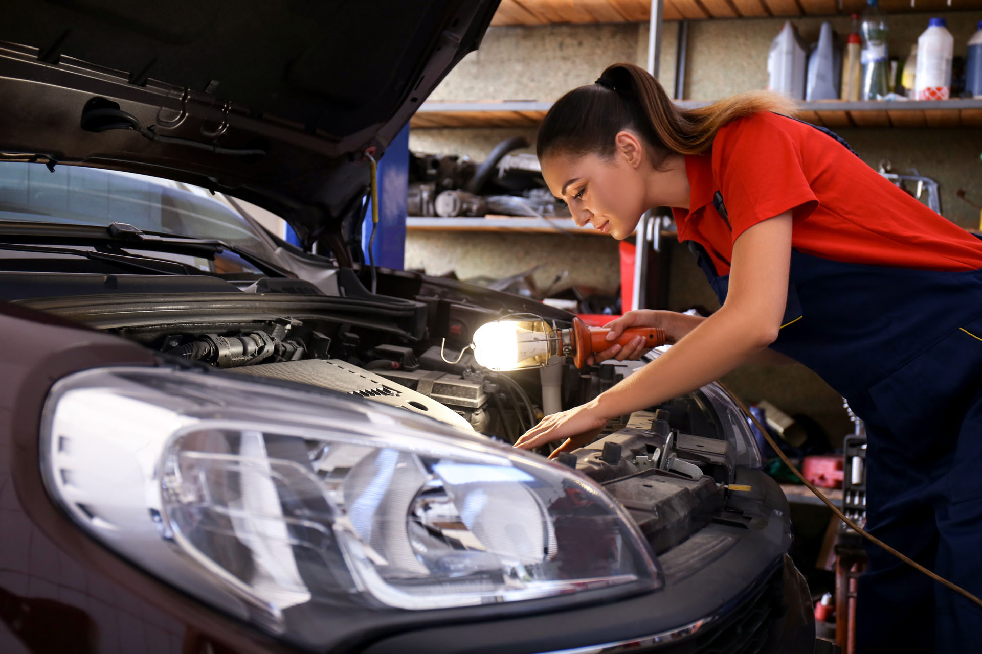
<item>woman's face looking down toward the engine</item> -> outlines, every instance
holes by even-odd
[[[639,150],[621,147],[609,160],[594,154],[548,155],[542,160],[542,176],[553,195],[570,206],[576,225],[589,224],[621,240],[651,208],[645,170],[650,166],[640,165],[643,161]]]

